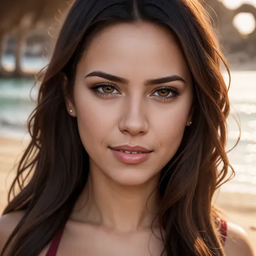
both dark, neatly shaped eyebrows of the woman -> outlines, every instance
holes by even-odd
[[[93,71],[91,73],[89,73],[88,75],[85,76],[86,77],[101,77],[107,80],[110,80],[112,82],[116,82],[116,83],[122,83],[122,84],[129,84],[129,80],[123,77],[118,77],[118,76],[114,76],[102,71]],[[181,81],[183,83],[186,83],[185,80],[178,76],[178,75],[172,75],[172,76],[167,76],[167,77],[160,77],[160,78],[156,78],[156,79],[147,79],[145,82],[145,85],[156,85],[156,84],[164,84],[164,83],[170,83],[170,82],[174,82],[174,81]]]

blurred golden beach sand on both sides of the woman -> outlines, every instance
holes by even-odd
[[[0,211],[6,205],[6,197],[17,163],[28,140],[0,137]],[[217,206],[223,210],[227,219],[238,224],[247,232],[256,253],[256,200],[255,195],[219,192],[214,198]],[[242,256],[242,255],[241,255]]]

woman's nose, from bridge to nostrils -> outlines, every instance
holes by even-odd
[[[146,134],[149,130],[145,106],[141,100],[132,100],[124,106],[122,118],[119,122],[119,130],[123,133],[129,133],[132,136]]]

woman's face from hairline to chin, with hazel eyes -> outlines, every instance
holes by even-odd
[[[169,31],[119,24],[90,42],[73,99],[68,110],[77,117],[90,172],[142,185],[158,177],[190,125],[192,77]]]

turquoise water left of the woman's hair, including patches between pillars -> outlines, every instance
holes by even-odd
[[[14,69],[14,56],[3,58],[8,70]],[[48,65],[46,58],[26,57],[22,59],[24,70],[37,72]],[[0,134],[22,136],[29,114],[35,108],[32,101],[37,97],[37,87],[32,90],[34,79],[0,79]]]

